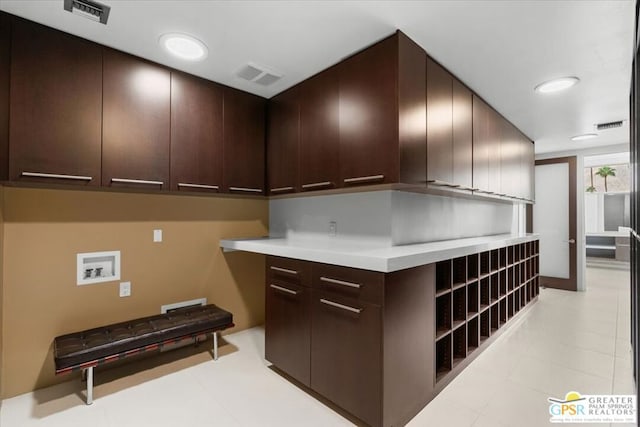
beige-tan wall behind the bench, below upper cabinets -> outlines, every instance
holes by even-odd
[[[267,224],[265,200],[5,188],[2,397],[69,378],[54,376],[55,336],[162,304],[207,297],[234,314],[234,330],[263,323],[264,257],[218,242],[266,235]],[[76,286],[76,254],[110,250],[121,251],[128,298],[117,282]]]

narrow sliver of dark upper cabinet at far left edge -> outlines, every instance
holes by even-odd
[[[9,76],[11,17],[0,12],[0,179],[9,178]]]

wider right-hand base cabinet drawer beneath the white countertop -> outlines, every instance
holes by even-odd
[[[313,265],[313,287],[374,304],[384,299],[384,274],[328,264]]]

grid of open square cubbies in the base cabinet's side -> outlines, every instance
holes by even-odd
[[[537,298],[538,253],[534,240],[436,263],[436,383]]]

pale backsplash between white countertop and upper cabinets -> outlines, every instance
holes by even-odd
[[[403,191],[273,199],[271,237],[396,246],[518,231],[514,205]],[[330,235],[330,223],[337,232]]]

